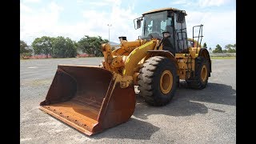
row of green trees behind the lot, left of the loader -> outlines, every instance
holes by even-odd
[[[90,37],[85,35],[78,42],[71,40],[70,38],[47,37],[35,38],[31,46],[34,50],[34,54],[45,54],[46,57],[50,55],[53,58],[74,58],[78,54],[78,50],[82,53],[90,54],[94,57],[102,57],[101,45],[109,42],[102,37]],[[30,56],[32,50],[27,49],[26,42],[20,40],[20,54],[22,56]]]

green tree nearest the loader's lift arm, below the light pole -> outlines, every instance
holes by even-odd
[[[102,44],[109,42],[102,37],[90,37],[85,35],[78,41],[78,49],[82,50],[83,53],[92,54],[96,57],[102,57]]]

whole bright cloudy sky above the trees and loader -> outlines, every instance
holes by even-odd
[[[186,10],[188,38],[192,27],[202,24],[208,48],[236,43],[235,0],[21,0],[20,39],[31,45],[42,36],[78,42],[85,35],[109,39],[110,34],[111,42],[118,43],[119,36],[134,41],[142,34],[142,28],[134,30],[134,18],[166,7]]]

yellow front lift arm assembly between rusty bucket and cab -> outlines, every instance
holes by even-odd
[[[113,52],[110,44],[103,44],[102,52],[105,58],[103,66],[106,70],[134,77],[134,72],[138,71],[140,64],[146,60],[147,51],[154,50],[157,44],[159,44],[157,39],[150,42],[141,39],[134,42],[122,41],[121,48]],[[162,46],[159,49],[162,49]]]

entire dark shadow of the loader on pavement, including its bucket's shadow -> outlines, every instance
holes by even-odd
[[[193,90],[187,88],[186,82],[181,82],[181,86],[178,88],[173,100],[168,105],[149,106],[140,96],[137,95],[137,104],[133,114],[135,118],[130,118],[128,122],[103,130],[99,134],[87,137],[94,139],[127,138],[149,140],[151,135],[160,130],[160,128],[137,118],[148,119],[148,116],[152,114],[165,114],[175,117],[190,116],[193,114],[206,114],[210,108],[207,108],[200,102],[235,106],[235,99],[236,90],[232,89],[231,86],[218,83],[208,83],[208,86],[203,90]],[[225,113],[224,110],[211,110]],[[86,136],[86,134],[84,135]]]

